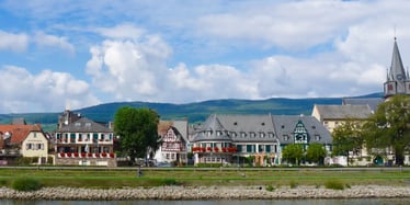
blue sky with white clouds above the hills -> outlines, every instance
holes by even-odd
[[[0,0],[0,113],[383,92],[407,0]]]

